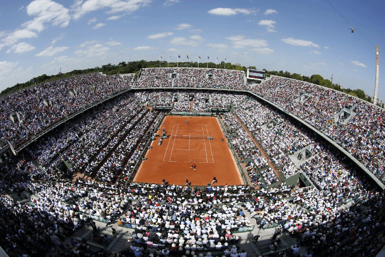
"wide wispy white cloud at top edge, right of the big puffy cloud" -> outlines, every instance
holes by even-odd
[[[76,0],[72,6],[72,11],[74,19],[77,20],[85,14],[101,9],[109,9],[106,12],[107,14],[132,13],[149,3],[151,3],[151,0]]]

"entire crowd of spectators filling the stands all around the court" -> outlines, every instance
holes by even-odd
[[[189,80],[189,72],[193,72],[197,78],[206,76],[206,80],[234,80],[235,84],[241,80],[234,71],[221,70],[218,73],[218,70],[206,69],[180,68],[173,72],[174,70],[175,68],[144,69],[141,79],[148,77],[146,83],[151,84],[153,78],[149,78],[155,71],[159,72],[155,75],[158,76],[155,80],[160,80],[159,85],[183,80],[198,85],[194,78]],[[210,74],[213,78],[209,78]],[[76,111],[77,107],[73,104],[78,104],[81,108],[87,101],[105,98],[130,84],[121,77],[114,79],[118,81],[114,83],[121,83],[118,89],[107,83],[112,83],[111,78],[106,79],[98,74],[90,75],[88,79],[68,79],[65,83],[73,89],[70,96],[79,95],[80,91],[77,90],[82,90],[85,85],[96,88],[95,85],[105,83],[110,89],[103,93],[97,89],[87,91],[83,88],[86,92],[81,97],[84,105],[73,100],[69,103],[73,108],[70,110],[66,109],[70,105],[62,103],[67,107],[62,106],[60,115]],[[334,91],[330,93],[324,89],[325,95],[330,98],[324,99],[321,98],[322,93],[315,90],[312,84],[281,78],[271,80],[267,82],[270,85],[258,86],[265,97],[276,100],[284,107],[294,106],[296,110],[307,113],[312,109],[312,104],[317,102],[317,107],[312,111],[320,117],[312,120],[307,120],[305,116],[303,118],[309,123],[321,124],[327,121],[325,126],[316,126],[317,129],[329,133],[334,141],[355,156],[361,156],[359,160],[366,162],[367,167],[371,167],[377,176],[381,176],[383,157],[380,155],[381,142],[378,140],[383,133],[381,119],[372,120],[368,124],[362,123],[363,117],[367,115],[372,115],[372,118],[376,115],[381,117],[381,110],[350,96],[344,96],[346,101],[337,107],[340,102],[338,93]],[[59,85],[64,82],[55,83]],[[143,82],[142,87],[147,87],[146,83]],[[217,82],[216,85],[225,87],[231,84],[233,81],[224,84]],[[290,91],[289,86],[295,89]],[[273,87],[275,91],[272,90]],[[20,92],[27,99],[23,104],[28,103],[30,106],[37,99],[32,94],[40,94],[43,90],[43,87],[38,86]],[[291,95],[284,97],[285,93]],[[207,110],[208,106],[239,107],[235,114],[224,113],[221,122],[237,157],[247,162],[246,170],[252,185],[260,190],[253,190],[248,186],[226,185],[199,189],[191,186],[130,182],[129,178],[134,174],[150,135],[162,119],[162,112],[150,112],[143,103],[158,100],[159,104],[165,103],[167,106],[172,105],[175,110],[183,110],[190,107],[192,95],[194,106],[200,110]],[[269,98],[272,95],[276,98]],[[42,103],[38,106],[41,107],[41,113],[49,113],[54,110],[53,106],[58,106],[58,97],[42,96],[38,101]],[[11,135],[10,131],[16,125],[20,125],[25,132],[28,131],[30,136],[45,128],[42,125],[45,124],[42,121],[45,114],[39,111],[32,118],[33,122],[39,124],[37,126],[32,123],[9,122],[11,119],[7,116],[10,112],[8,108],[22,108],[15,102],[18,97],[9,97],[3,99],[0,107],[2,115],[7,113],[4,124],[12,125],[13,129],[2,127],[2,137]],[[6,99],[11,99],[10,102],[14,105],[7,103]],[[328,101],[333,107],[328,109],[324,101]],[[354,110],[355,116],[346,123],[333,123],[334,114],[342,108]],[[18,113],[25,120],[31,110],[33,108],[27,108]],[[296,115],[300,116],[298,113]],[[63,242],[90,219],[106,224],[118,222],[121,226],[134,229],[127,242],[127,249],[121,252],[122,255],[194,256],[205,252],[206,256],[211,256],[208,251],[221,251],[226,256],[243,257],[246,256],[245,251],[239,245],[240,238],[234,233],[253,229],[245,211],[255,218],[261,228],[279,224],[277,229],[298,237],[299,244],[307,245],[313,256],[374,256],[383,246],[383,193],[376,193],[375,186],[363,174],[355,170],[340,154],[330,150],[325,143],[318,142],[311,132],[245,94],[128,92],[95,107],[93,111],[73,121],[71,126],[63,128],[65,129],[62,131],[53,131],[42,137],[1,166],[0,245],[12,257],[38,256],[49,251],[56,256],[78,256],[78,247],[87,251],[86,246],[73,238],[72,245],[64,245]],[[361,133],[360,137],[354,138],[356,133]],[[297,167],[289,156],[305,147],[311,152],[311,158]],[[362,148],[363,154],[359,151]],[[59,176],[55,168],[61,160],[72,166],[70,174],[85,172],[101,182],[81,179],[72,182],[72,177],[66,179]],[[270,188],[269,185],[280,180],[268,161],[285,177],[303,172],[314,187],[288,186],[281,182]],[[31,201],[21,203],[10,197],[18,195],[27,199],[24,193],[26,191],[32,195]],[[351,203],[352,206],[349,207]],[[298,246],[293,246],[291,250],[297,253]]]

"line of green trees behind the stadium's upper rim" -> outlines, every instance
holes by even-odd
[[[54,80],[60,80],[64,79],[67,77],[72,77],[72,76],[78,76],[82,74],[88,74],[92,72],[103,72],[106,75],[113,75],[113,74],[125,74],[125,73],[135,73],[135,78],[137,78],[137,75],[140,71],[141,68],[157,68],[157,67],[201,67],[201,68],[218,68],[218,69],[230,69],[230,70],[243,70],[245,73],[247,72],[247,69],[255,69],[255,66],[240,66],[240,65],[235,65],[230,62],[225,63],[225,61],[221,61],[220,63],[214,63],[214,62],[167,62],[167,61],[132,61],[132,62],[120,62],[118,64],[105,64],[102,65],[101,67],[94,67],[94,68],[88,68],[88,69],[83,69],[83,70],[73,70],[70,72],[66,73],[58,73],[56,75],[47,75],[43,74],[38,77],[35,77],[27,82],[24,83],[18,83],[15,86],[8,87],[4,89],[1,93],[0,96],[7,95],[10,93],[13,93],[15,91],[18,91],[23,88],[35,86],[40,83],[45,83],[49,81],[54,81]],[[363,99],[368,102],[372,102],[372,99],[370,96],[366,96],[365,92],[361,89],[345,89],[341,87],[339,84],[333,84],[330,80],[324,79],[321,75],[319,74],[314,74],[311,75],[310,77],[308,76],[303,76],[297,73],[290,73],[288,71],[283,72],[281,71],[268,71],[266,69],[263,69],[267,76],[270,75],[276,75],[276,76],[282,76],[282,77],[287,77],[287,78],[292,78],[292,79],[297,79],[301,81],[306,81],[306,82],[311,82],[320,86],[325,86],[328,88],[332,88],[341,92],[345,92],[347,94],[356,96],[360,99]],[[383,104],[382,104],[383,105]],[[382,106],[383,107],[383,106]]]

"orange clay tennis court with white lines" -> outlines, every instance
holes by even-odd
[[[188,179],[191,185],[206,186],[216,177],[215,185],[244,184],[217,117],[166,116],[163,122],[157,135],[164,128],[170,137],[160,146],[159,137],[151,143],[134,182],[161,184],[164,178],[169,184],[185,185]],[[196,171],[189,168],[191,160]]]

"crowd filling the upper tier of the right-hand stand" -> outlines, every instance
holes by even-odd
[[[383,109],[339,91],[277,76],[253,91],[316,127],[385,182]],[[343,110],[349,114],[341,120]]]

